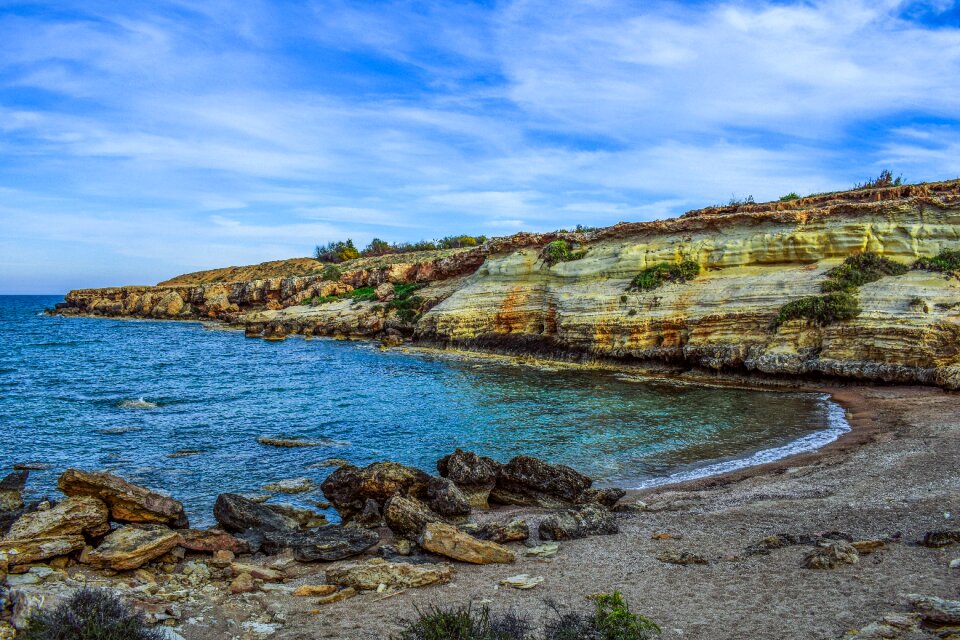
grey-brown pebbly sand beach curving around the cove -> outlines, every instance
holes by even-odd
[[[905,594],[956,598],[960,570],[948,563],[960,557],[960,545],[935,550],[916,542],[926,531],[960,526],[957,396],[917,387],[831,392],[848,409],[852,433],[813,454],[628,496],[649,510],[621,516],[618,535],[564,542],[549,560],[458,564],[448,585],[390,598],[367,593],[319,612],[309,598],[257,594],[243,602],[234,596],[205,613],[187,612],[203,615],[202,621],[180,632],[188,640],[257,637],[235,625],[265,605],[287,613],[287,623],[270,636],[278,640],[388,638],[414,607],[473,601],[539,620],[545,599],[588,608],[589,594],[620,590],[634,610],[663,627],[664,638],[836,639],[888,612],[907,611]],[[497,516],[507,513],[527,516],[533,531],[544,515],[513,509]],[[804,568],[809,546],[746,553],[771,534],[831,530],[902,542],[835,570]],[[661,532],[682,538],[651,539]],[[657,560],[667,550],[691,551],[709,564]],[[296,583],[322,581],[324,568],[311,566],[315,573]],[[498,587],[518,573],[545,580],[530,591]]]

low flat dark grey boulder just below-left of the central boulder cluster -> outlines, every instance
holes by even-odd
[[[265,531],[263,550],[275,554],[290,549],[300,562],[332,562],[363,553],[379,541],[376,531],[332,524],[312,531]]]

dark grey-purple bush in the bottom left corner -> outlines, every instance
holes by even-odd
[[[36,613],[21,640],[163,640],[143,616],[109,591],[81,589],[52,610]]]

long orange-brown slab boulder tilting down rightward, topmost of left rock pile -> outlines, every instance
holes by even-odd
[[[102,500],[110,509],[110,518],[117,522],[165,524],[178,529],[189,526],[180,502],[110,473],[67,469],[57,486],[70,497]]]

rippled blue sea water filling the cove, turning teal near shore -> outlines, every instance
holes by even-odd
[[[299,476],[319,483],[330,470],[308,467],[331,457],[435,472],[437,458],[462,447],[637,487],[815,448],[847,428],[814,394],[41,314],[59,300],[0,296],[0,468],[52,465],[31,475],[33,496],[55,495],[70,466],[112,470],[183,500],[200,524],[218,493]],[[260,435],[327,444],[279,449]],[[180,449],[201,453],[167,457]]]

